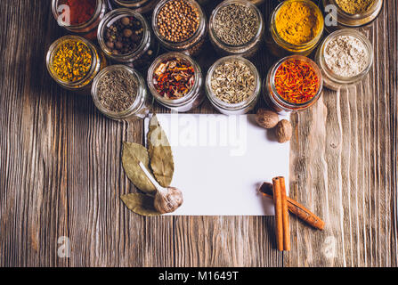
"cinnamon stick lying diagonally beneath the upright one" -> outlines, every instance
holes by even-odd
[[[272,183],[263,183],[263,185],[260,187],[260,191],[263,193],[265,197],[273,199]],[[288,197],[287,200],[288,200],[288,210],[290,211],[290,213],[296,215],[297,217],[305,221],[305,223],[310,224],[314,228],[318,230],[323,230],[325,223],[321,220],[319,216],[313,214],[313,212],[305,208],[296,200],[290,199]]]

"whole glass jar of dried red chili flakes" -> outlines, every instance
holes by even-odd
[[[184,53],[165,53],[148,70],[150,93],[161,105],[177,112],[203,102],[203,76],[199,64]]]

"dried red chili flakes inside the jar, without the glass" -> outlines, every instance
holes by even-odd
[[[153,85],[167,99],[179,99],[188,94],[195,83],[195,70],[190,62],[170,58],[160,62],[153,73]]]

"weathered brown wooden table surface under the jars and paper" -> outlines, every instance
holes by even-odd
[[[265,19],[274,5],[262,6]],[[121,144],[142,142],[142,122],[104,118],[90,96],[49,77],[46,50],[64,34],[50,1],[1,1],[0,265],[397,266],[397,12],[387,0],[361,28],[375,49],[361,85],[325,90],[291,118],[290,196],[326,228],[291,217],[292,250],[280,253],[272,216],[146,218],[125,208],[119,196],[135,190]],[[273,61],[260,51],[263,76]],[[69,258],[57,255],[62,236]]]

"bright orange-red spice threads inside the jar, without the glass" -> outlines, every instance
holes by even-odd
[[[286,102],[303,104],[317,94],[319,80],[309,63],[288,59],[276,70],[274,83],[278,94]]]

